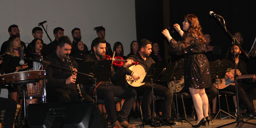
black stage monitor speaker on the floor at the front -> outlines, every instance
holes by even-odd
[[[26,128],[105,128],[96,103],[61,102],[29,104]]]

